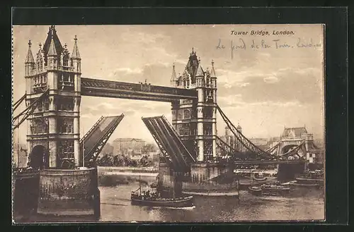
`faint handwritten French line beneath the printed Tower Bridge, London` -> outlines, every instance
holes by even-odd
[[[256,50],[256,49],[316,49],[321,47],[322,44],[316,43],[313,39],[297,38],[296,41],[288,42],[286,39],[251,39],[246,41],[245,39],[232,39],[228,41],[222,41],[219,39],[216,49],[231,51],[233,58],[234,51],[237,50]]]

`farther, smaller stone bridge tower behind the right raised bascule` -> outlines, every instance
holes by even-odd
[[[172,103],[172,125],[181,140],[198,161],[217,155],[216,112],[217,76],[214,62],[211,71],[203,70],[197,53],[192,50],[182,75],[176,76],[173,66],[171,82],[174,87],[194,89],[198,100],[178,100]]]

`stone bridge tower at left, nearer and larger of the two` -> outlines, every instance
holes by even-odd
[[[33,59],[28,43],[25,60],[26,105],[40,98],[28,117],[27,147],[30,166],[57,168],[81,164],[79,106],[81,57],[74,38],[72,54],[62,46],[52,25]],[[45,94],[43,96],[42,94]]]

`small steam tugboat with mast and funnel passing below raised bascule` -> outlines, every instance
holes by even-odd
[[[174,192],[173,192],[174,193]],[[174,194],[173,194],[174,195]],[[139,181],[139,188],[132,191],[130,197],[132,204],[144,205],[150,207],[193,207],[193,196],[162,198],[160,193],[156,190],[155,193],[150,191],[142,191],[141,182]]]

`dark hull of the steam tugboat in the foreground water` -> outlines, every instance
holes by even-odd
[[[132,204],[135,205],[144,205],[150,207],[193,207],[193,197],[181,197],[178,199],[169,199],[169,200],[141,200],[132,197]]]

